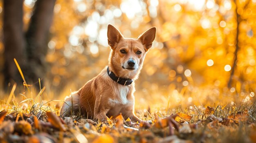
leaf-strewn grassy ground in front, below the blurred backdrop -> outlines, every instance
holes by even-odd
[[[28,89],[28,88],[27,88]],[[43,90],[43,89],[42,89]],[[41,92],[43,92],[41,90]],[[194,106],[195,112],[177,109],[166,111],[136,110],[144,124],[126,121],[120,115],[106,123],[83,119],[79,114],[59,117],[59,107],[50,107],[41,101],[41,92],[34,98],[24,95],[16,101],[11,91],[7,101],[0,101],[0,142],[17,143],[255,143],[256,105],[241,103],[235,107]],[[13,105],[10,105],[10,101]],[[173,117],[171,119],[171,117]],[[170,120],[177,122],[171,124]]]

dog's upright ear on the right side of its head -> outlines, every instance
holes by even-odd
[[[146,47],[146,50],[151,48],[152,43],[155,40],[156,32],[157,32],[157,28],[152,27],[148,29],[146,32],[144,32],[143,34],[141,34],[141,36],[139,36],[139,40]]]

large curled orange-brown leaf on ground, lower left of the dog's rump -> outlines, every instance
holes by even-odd
[[[50,123],[52,123],[52,125],[55,128],[58,128],[61,131],[66,131],[65,126],[61,123],[61,120],[59,119],[59,117],[56,114],[54,114],[53,112],[46,112],[46,114],[47,114],[47,117],[48,117],[48,121]]]

